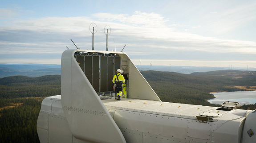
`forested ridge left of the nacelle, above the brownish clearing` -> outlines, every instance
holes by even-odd
[[[48,97],[61,94],[61,75],[0,78],[0,98]]]

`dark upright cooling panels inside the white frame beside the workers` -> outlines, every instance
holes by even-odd
[[[112,78],[121,67],[118,54],[76,52],[75,58],[97,93],[113,91]]]

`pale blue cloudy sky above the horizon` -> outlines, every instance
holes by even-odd
[[[255,25],[255,0],[0,0],[0,63],[61,64],[95,27],[135,65],[256,68]]]

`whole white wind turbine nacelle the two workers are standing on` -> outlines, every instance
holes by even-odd
[[[115,100],[112,77],[128,77]],[[101,95],[107,96],[101,96]],[[65,50],[61,95],[46,97],[41,143],[255,143],[256,110],[162,102],[123,52]]]

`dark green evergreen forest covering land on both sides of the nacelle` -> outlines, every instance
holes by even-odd
[[[141,71],[162,101],[210,104],[212,92],[256,90],[255,71],[223,70],[182,74]],[[39,143],[37,117],[45,97],[61,94],[61,76],[0,78],[0,143]],[[256,104],[240,106],[256,109]]]

